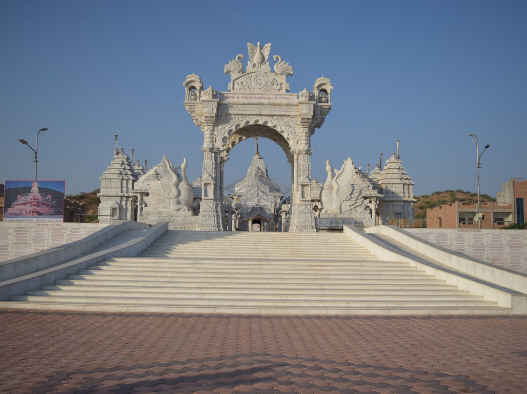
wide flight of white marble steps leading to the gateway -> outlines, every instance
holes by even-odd
[[[167,231],[135,258],[108,258],[12,296],[12,308],[261,314],[496,314],[495,302],[342,233]]]

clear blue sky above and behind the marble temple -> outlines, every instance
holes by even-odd
[[[183,81],[227,91],[223,66],[247,42],[272,43],[294,67],[291,93],[324,75],[333,107],[312,137],[311,171],[325,179],[349,156],[383,164],[401,141],[415,195],[495,196],[527,178],[525,1],[12,1],[0,0],[0,182],[66,181],[66,194],[100,187],[119,148],[149,168],[164,154],[201,174],[203,136],[184,110]],[[272,178],[289,181],[281,149],[260,140]],[[225,184],[243,176],[252,141],[235,147]]]

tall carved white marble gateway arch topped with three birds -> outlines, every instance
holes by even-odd
[[[202,195],[199,230],[222,231],[223,165],[229,152],[250,137],[264,137],[284,150],[291,165],[292,232],[315,232],[311,207],[311,135],[323,125],[331,109],[331,86],[327,78],[315,81],[313,90],[287,93],[286,77],[292,67],[278,55],[273,71],[268,61],[271,44],[247,44],[243,54],[225,65],[231,75],[227,92],[210,86],[203,89],[200,76],[191,74],[183,83],[184,106],[203,133]]]

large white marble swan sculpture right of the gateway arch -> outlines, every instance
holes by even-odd
[[[348,157],[340,170],[334,169],[328,159],[326,171],[326,182],[320,191],[321,213],[362,212],[367,201],[363,199],[362,188],[355,188],[354,181],[360,178],[360,170],[355,168],[352,159]]]

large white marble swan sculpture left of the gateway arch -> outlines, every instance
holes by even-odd
[[[150,182],[149,195],[144,198],[144,201],[147,203],[144,211],[189,212],[194,194],[192,192],[192,185],[185,174],[187,159],[183,157],[181,166],[174,168],[165,155],[163,156],[160,167],[161,178]]]

